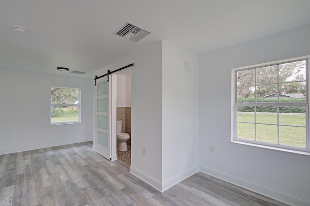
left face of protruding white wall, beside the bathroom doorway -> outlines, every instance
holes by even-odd
[[[130,173],[161,188],[162,138],[162,43],[142,49],[121,59],[98,74],[114,71],[134,63],[131,67],[131,166]],[[146,148],[146,156],[142,148]]]

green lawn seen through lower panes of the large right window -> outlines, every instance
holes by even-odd
[[[254,113],[237,114],[237,138],[255,140],[255,126],[250,123],[254,123]],[[278,144],[277,113],[257,113],[256,123],[262,123],[256,124],[256,141]],[[282,125],[306,126],[306,117],[304,114],[285,113],[279,115],[279,144],[293,147],[306,147],[305,127]]]

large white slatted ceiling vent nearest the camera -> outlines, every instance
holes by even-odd
[[[116,34],[124,39],[128,39],[133,42],[138,42],[140,39],[150,34],[150,31],[141,29],[135,25],[128,22],[124,23],[122,27],[117,29],[113,34]]]

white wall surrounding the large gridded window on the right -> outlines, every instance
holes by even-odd
[[[230,143],[231,69],[310,55],[309,37],[310,26],[200,57],[202,172],[292,205],[310,205],[309,156]]]

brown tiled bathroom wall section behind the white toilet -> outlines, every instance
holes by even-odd
[[[129,134],[130,139],[127,141],[127,145],[131,145],[131,107],[117,107],[116,118],[123,120],[122,132]]]

